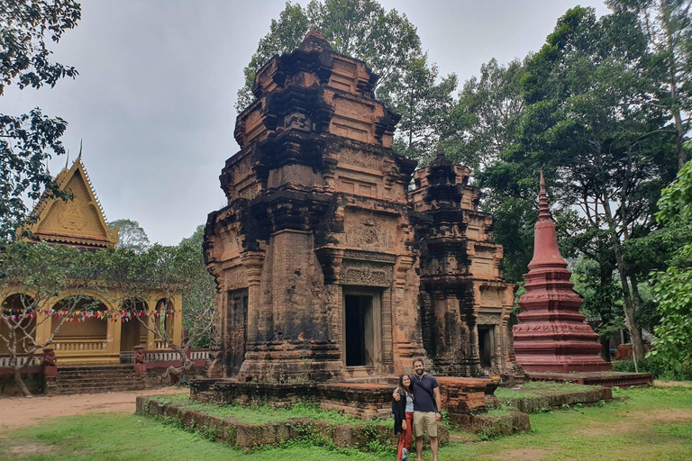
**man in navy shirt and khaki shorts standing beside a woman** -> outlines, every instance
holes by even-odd
[[[414,375],[411,376],[411,392],[414,393],[414,436],[417,461],[423,456],[423,431],[430,438],[432,460],[437,461],[437,421],[442,419],[440,384],[433,375],[425,373],[422,358],[414,360]],[[401,398],[394,393],[394,400]]]

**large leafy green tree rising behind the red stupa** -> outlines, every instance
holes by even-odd
[[[662,258],[660,242],[635,240],[656,228],[660,188],[676,169],[667,115],[650,104],[653,65],[635,14],[597,18],[592,9],[569,10],[525,64],[526,106],[514,143],[479,176],[493,191],[484,204],[496,215],[496,240],[521,269],[532,249],[530,218],[544,171],[563,255],[598,265],[579,275],[587,310],[607,332],[621,317],[614,298],[622,300],[638,353],[638,321],[656,321],[641,279]],[[653,252],[658,258],[642,257]],[[519,270],[507,265],[505,276],[515,280]]]

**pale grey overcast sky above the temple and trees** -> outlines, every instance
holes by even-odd
[[[305,0],[298,2],[305,5]],[[539,50],[570,0],[381,0],[418,28],[441,74],[460,83],[492,58]],[[139,221],[152,242],[174,245],[221,208],[218,176],[239,148],[233,104],[250,61],[284,0],[89,0],[55,59],[79,76],[53,88],[10,87],[0,113],[40,106],[68,121],[70,163],[83,161],[106,218]],[[57,174],[66,158],[50,163]]]

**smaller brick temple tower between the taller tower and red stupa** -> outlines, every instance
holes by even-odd
[[[521,378],[508,327],[514,285],[502,279],[493,218],[478,211],[469,168],[438,150],[409,192],[419,245],[423,345],[438,373]]]

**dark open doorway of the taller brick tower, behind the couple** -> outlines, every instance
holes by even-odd
[[[343,308],[346,366],[376,366],[382,348],[379,293],[345,291]]]

